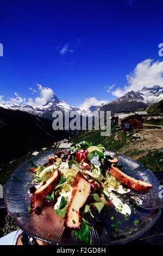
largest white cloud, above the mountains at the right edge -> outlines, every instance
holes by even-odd
[[[163,86],[163,61],[153,62],[152,59],[146,59],[137,64],[133,72],[127,75],[128,85],[124,88],[117,88],[112,91],[112,95],[120,97],[130,91],[138,91],[145,87],[154,85]]]

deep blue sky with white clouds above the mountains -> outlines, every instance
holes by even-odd
[[[158,0],[2,0],[0,103],[36,103],[53,91],[79,106],[163,85],[162,7]]]

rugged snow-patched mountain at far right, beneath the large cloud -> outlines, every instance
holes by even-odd
[[[128,102],[132,102],[136,100],[136,102],[143,102],[147,105],[159,102],[163,99],[163,87],[159,85],[154,85],[153,87],[143,87],[139,91],[130,91],[124,94],[122,97],[119,97],[112,102],[120,102],[123,100],[127,100]]]

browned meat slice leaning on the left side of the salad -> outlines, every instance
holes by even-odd
[[[48,178],[45,184],[40,186],[33,193],[33,197],[30,203],[32,208],[35,208],[45,197],[50,194],[60,181],[60,171],[57,169],[53,172],[52,177]]]

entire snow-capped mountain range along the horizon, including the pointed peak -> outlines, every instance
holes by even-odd
[[[105,106],[107,108],[112,109],[112,105],[118,107],[120,105],[120,110],[122,108],[122,105],[125,105],[125,102],[127,103],[126,106],[129,108],[129,104],[131,104],[131,108],[135,106],[136,109],[142,108],[143,106],[151,105],[153,103],[159,102],[161,99],[163,99],[163,87],[159,85],[155,85],[153,87],[143,87],[139,91],[130,91],[122,97],[118,97],[117,99],[112,100],[108,104],[103,103],[99,106],[90,106],[90,108],[86,109],[86,113],[89,114],[92,111],[95,110],[105,110]],[[122,104],[123,103],[123,104]],[[139,106],[140,103],[140,106]],[[134,105],[134,106],[133,106]],[[52,114],[54,111],[62,111],[64,112],[65,110],[67,111],[77,111],[78,114],[83,113],[83,109],[70,106],[63,100],[59,99],[56,94],[53,95],[53,98],[48,100],[46,104],[44,105],[18,105],[18,104],[11,104],[11,105],[2,105],[0,104],[1,107],[5,109],[12,109],[12,110],[20,110],[20,111],[26,111],[29,114],[37,115],[43,118],[47,118],[50,120],[53,120]],[[135,110],[136,110],[135,109]],[[109,110],[109,109],[108,109]],[[114,110],[112,110],[114,112]],[[115,110],[116,111],[116,110]],[[123,109],[122,109],[123,111]],[[127,111],[127,110],[125,110]]]

